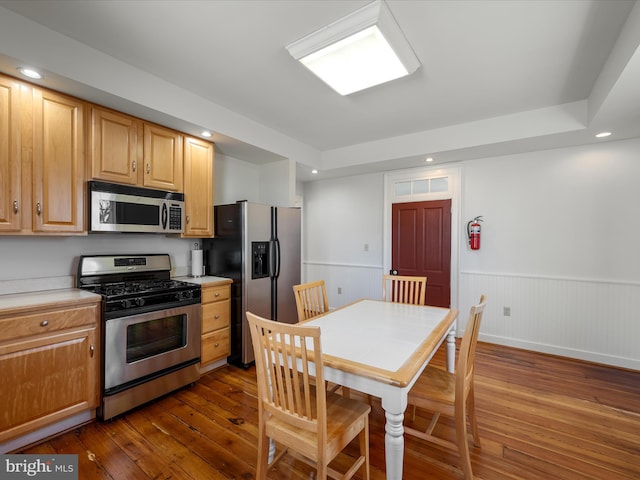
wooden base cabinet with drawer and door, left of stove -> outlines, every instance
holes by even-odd
[[[0,310],[0,443],[98,406],[99,305]]]

